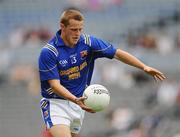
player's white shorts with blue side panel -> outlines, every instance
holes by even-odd
[[[77,104],[62,99],[45,99],[40,102],[41,113],[47,128],[53,125],[67,125],[71,133],[80,132],[85,111]]]

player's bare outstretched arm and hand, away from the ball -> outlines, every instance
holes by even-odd
[[[121,49],[117,49],[114,55],[114,58],[117,60],[120,60],[128,65],[134,66],[136,68],[139,68],[143,71],[145,71],[147,74],[154,77],[156,81],[158,80],[164,80],[166,77],[165,75],[160,72],[159,70],[152,68],[150,66],[147,66],[143,62],[141,62],[139,59],[131,55],[130,53],[123,51]]]

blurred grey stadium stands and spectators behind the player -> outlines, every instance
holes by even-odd
[[[110,107],[87,114],[81,137],[180,137],[179,0],[0,0],[0,137],[42,137],[37,59],[74,7],[85,32],[163,71],[155,83],[141,71],[97,61],[92,83],[111,92]]]

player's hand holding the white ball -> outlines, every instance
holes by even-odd
[[[94,110],[92,110],[91,108],[87,107],[85,104],[84,104],[84,100],[86,100],[87,98],[86,97],[79,97],[79,98],[76,98],[75,102],[77,105],[79,105],[83,110],[87,111],[87,112],[90,112],[90,113],[95,113]]]

